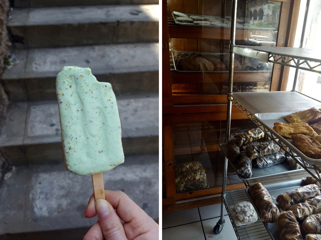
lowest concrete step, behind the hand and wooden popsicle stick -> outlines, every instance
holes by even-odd
[[[158,221],[158,154],[125,156],[103,173],[105,189],[122,190]],[[97,221],[84,218],[91,176],[77,176],[63,163],[17,166],[0,186],[0,239],[82,239]]]

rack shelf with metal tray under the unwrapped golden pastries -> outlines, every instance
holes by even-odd
[[[321,163],[321,159],[313,159],[304,155],[292,144],[293,141],[291,139],[283,138],[272,129],[275,122],[287,123],[284,117],[289,114],[312,107],[321,108],[320,101],[294,91],[234,92],[228,94],[228,99],[309,174],[321,182],[321,170],[316,165]],[[302,162],[297,159],[298,157],[301,158]],[[313,170],[315,170],[316,174],[312,172]]]

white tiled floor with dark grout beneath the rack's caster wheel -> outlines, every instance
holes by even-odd
[[[227,212],[224,212],[227,214]],[[221,204],[163,214],[163,240],[237,240],[230,219],[220,234],[213,233],[221,214]]]

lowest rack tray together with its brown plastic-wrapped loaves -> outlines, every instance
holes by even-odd
[[[303,240],[321,233],[321,192],[316,184],[292,180],[246,189],[247,196],[274,240]]]

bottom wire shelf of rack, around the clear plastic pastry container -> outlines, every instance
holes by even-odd
[[[233,229],[238,240],[269,240],[273,239],[268,228],[265,227],[261,220],[258,220],[255,223],[252,223],[246,227],[237,227],[232,220],[232,216],[229,211],[229,207],[242,202],[242,201],[250,201],[247,196],[245,189],[228,191],[223,195],[222,202],[225,205],[227,213],[229,214]]]

